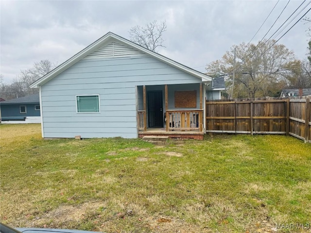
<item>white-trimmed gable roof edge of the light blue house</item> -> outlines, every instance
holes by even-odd
[[[104,46],[110,45],[113,42],[117,42],[118,44],[121,45],[125,45],[131,49],[134,50],[138,50],[138,52],[142,52],[144,54],[150,55],[164,63],[167,63],[173,67],[176,67],[184,72],[187,72],[197,78],[200,78],[202,80],[202,82],[205,81],[211,81],[211,77],[203,74],[197,70],[194,70],[190,67],[186,67],[178,62],[173,61],[172,59],[169,59],[165,56],[162,56],[156,52],[153,52],[151,50],[148,50],[138,44],[135,44],[132,41],[129,41],[117,34],[114,33],[107,33],[105,34],[103,37],[99,38],[98,40],[96,40],[95,42],[93,42],[92,44],[90,44],[89,46],[87,46],[84,50],[81,50],[80,52],[78,52],[77,54],[73,55],[71,58],[69,58],[66,62],[62,63],[61,65],[59,65],[58,67],[54,68],[51,72],[49,72],[48,74],[46,74],[45,76],[41,77],[40,79],[38,79],[37,81],[35,81],[34,83],[32,83],[30,85],[31,88],[35,88],[35,87],[39,87],[40,85],[43,85],[44,83],[47,83],[48,81],[50,81],[52,78],[54,78],[55,76],[57,76],[58,74],[60,74],[61,72],[65,71],[66,69],[68,69],[69,67],[71,67],[72,65],[74,65],[75,63],[79,62],[81,59],[86,58],[86,56],[96,52],[97,50],[100,50],[101,48],[103,48]]]

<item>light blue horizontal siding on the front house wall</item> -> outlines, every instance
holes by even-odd
[[[201,80],[146,55],[83,59],[41,87],[44,137],[136,138],[137,86],[140,109],[142,85],[181,83]],[[76,95],[97,94],[100,113],[76,112]]]

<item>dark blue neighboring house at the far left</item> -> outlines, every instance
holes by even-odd
[[[39,94],[0,102],[2,123],[40,123]]]

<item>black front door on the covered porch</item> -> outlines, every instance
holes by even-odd
[[[150,128],[163,127],[162,91],[148,91],[148,125]]]

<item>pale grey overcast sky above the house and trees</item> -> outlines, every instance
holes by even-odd
[[[267,38],[303,1],[291,0]],[[310,1],[306,1],[304,5]],[[159,53],[204,72],[233,45],[249,42],[270,11],[258,42],[288,1],[0,1],[0,73],[11,83],[20,70],[48,59],[58,65],[105,33],[129,39],[129,29],[166,20]],[[303,6],[304,6],[303,5]],[[278,36],[294,24],[311,4]],[[302,8],[300,8],[302,9]],[[310,14],[309,14],[310,13]],[[311,17],[311,12],[308,17]],[[295,15],[294,15],[295,16]],[[278,43],[306,59],[307,28],[298,22]]]

